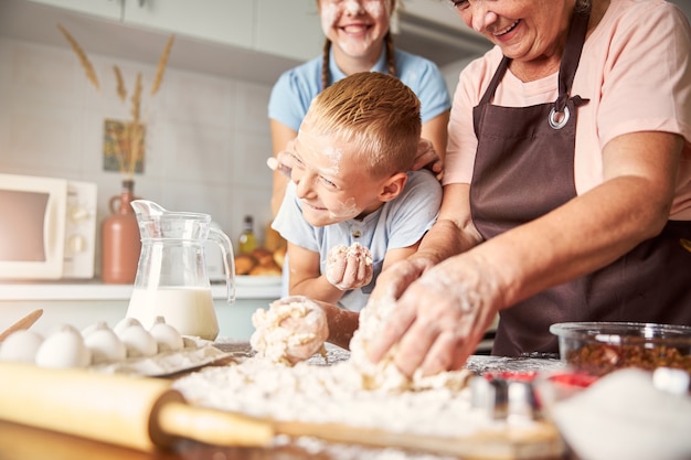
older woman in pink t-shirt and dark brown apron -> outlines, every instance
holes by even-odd
[[[382,272],[378,362],[557,351],[550,324],[691,324],[691,31],[662,0],[456,0],[495,47],[460,75],[439,218]]]

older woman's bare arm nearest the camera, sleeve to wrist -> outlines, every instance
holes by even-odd
[[[510,307],[595,271],[658,235],[669,218],[683,139],[623,135],[603,150],[604,182],[549,214],[477,247]]]

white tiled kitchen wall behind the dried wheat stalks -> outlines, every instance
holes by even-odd
[[[98,55],[82,45],[100,90],[71,50],[0,36],[0,171],[95,182],[102,222],[123,180],[103,170],[104,119],[129,119],[131,108],[115,90],[118,65],[128,97],[138,72],[143,82],[147,160],[135,194],[172,211],[209,213],[233,242],[252,214],[263,236],[270,220],[270,85],[168,67],[151,97],[156,62]]]

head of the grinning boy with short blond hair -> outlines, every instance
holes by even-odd
[[[401,193],[419,140],[418,104],[395,77],[375,73],[349,76],[312,101],[281,160],[310,225],[362,218]]]

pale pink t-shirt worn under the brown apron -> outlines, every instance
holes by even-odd
[[[635,131],[683,136],[676,197],[670,218],[691,220],[691,28],[684,14],[662,0],[612,0],[588,36],[571,95],[580,107],[576,126],[575,184],[583,194],[603,182],[603,147]],[[460,74],[449,121],[444,184],[470,183],[477,149],[472,107],[477,106],[501,61],[493,47]],[[557,96],[557,74],[522,83],[511,71],[492,104],[524,107]],[[655,154],[651,151],[650,154]]]

